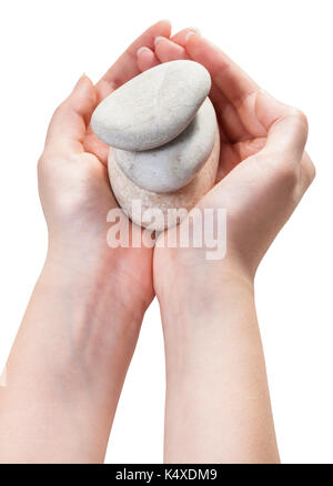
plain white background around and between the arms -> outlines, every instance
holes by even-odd
[[[332,14],[331,0],[1,2],[0,366],[46,255],[36,164],[54,108],[83,72],[97,81],[150,23],[198,27],[309,117],[317,176],[260,267],[256,303],[282,460],[333,463]],[[107,462],[162,460],[163,395],[154,302]]]

